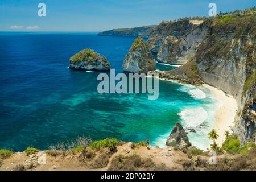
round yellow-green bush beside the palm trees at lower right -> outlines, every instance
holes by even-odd
[[[235,154],[240,151],[240,140],[237,137],[228,137],[222,143],[222,150],[229,152],[230,154]]]

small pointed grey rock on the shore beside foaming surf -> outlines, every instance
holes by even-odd
[[[191,146],[185,130],[179,122],[176,123],[166,141],[167,146],[177,147],[180,150]]]

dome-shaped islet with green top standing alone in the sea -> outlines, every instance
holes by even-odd
[[[109,61],[92,49],[84,49],[69,59],[69,68],[79,71],[110,71]]]

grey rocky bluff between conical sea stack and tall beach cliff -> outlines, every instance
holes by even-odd
[[[199,25],[183,38],[167,36],[158,51],[158,62],[185,64],[195,56],[197,48],[207,35],[207,28]]]

